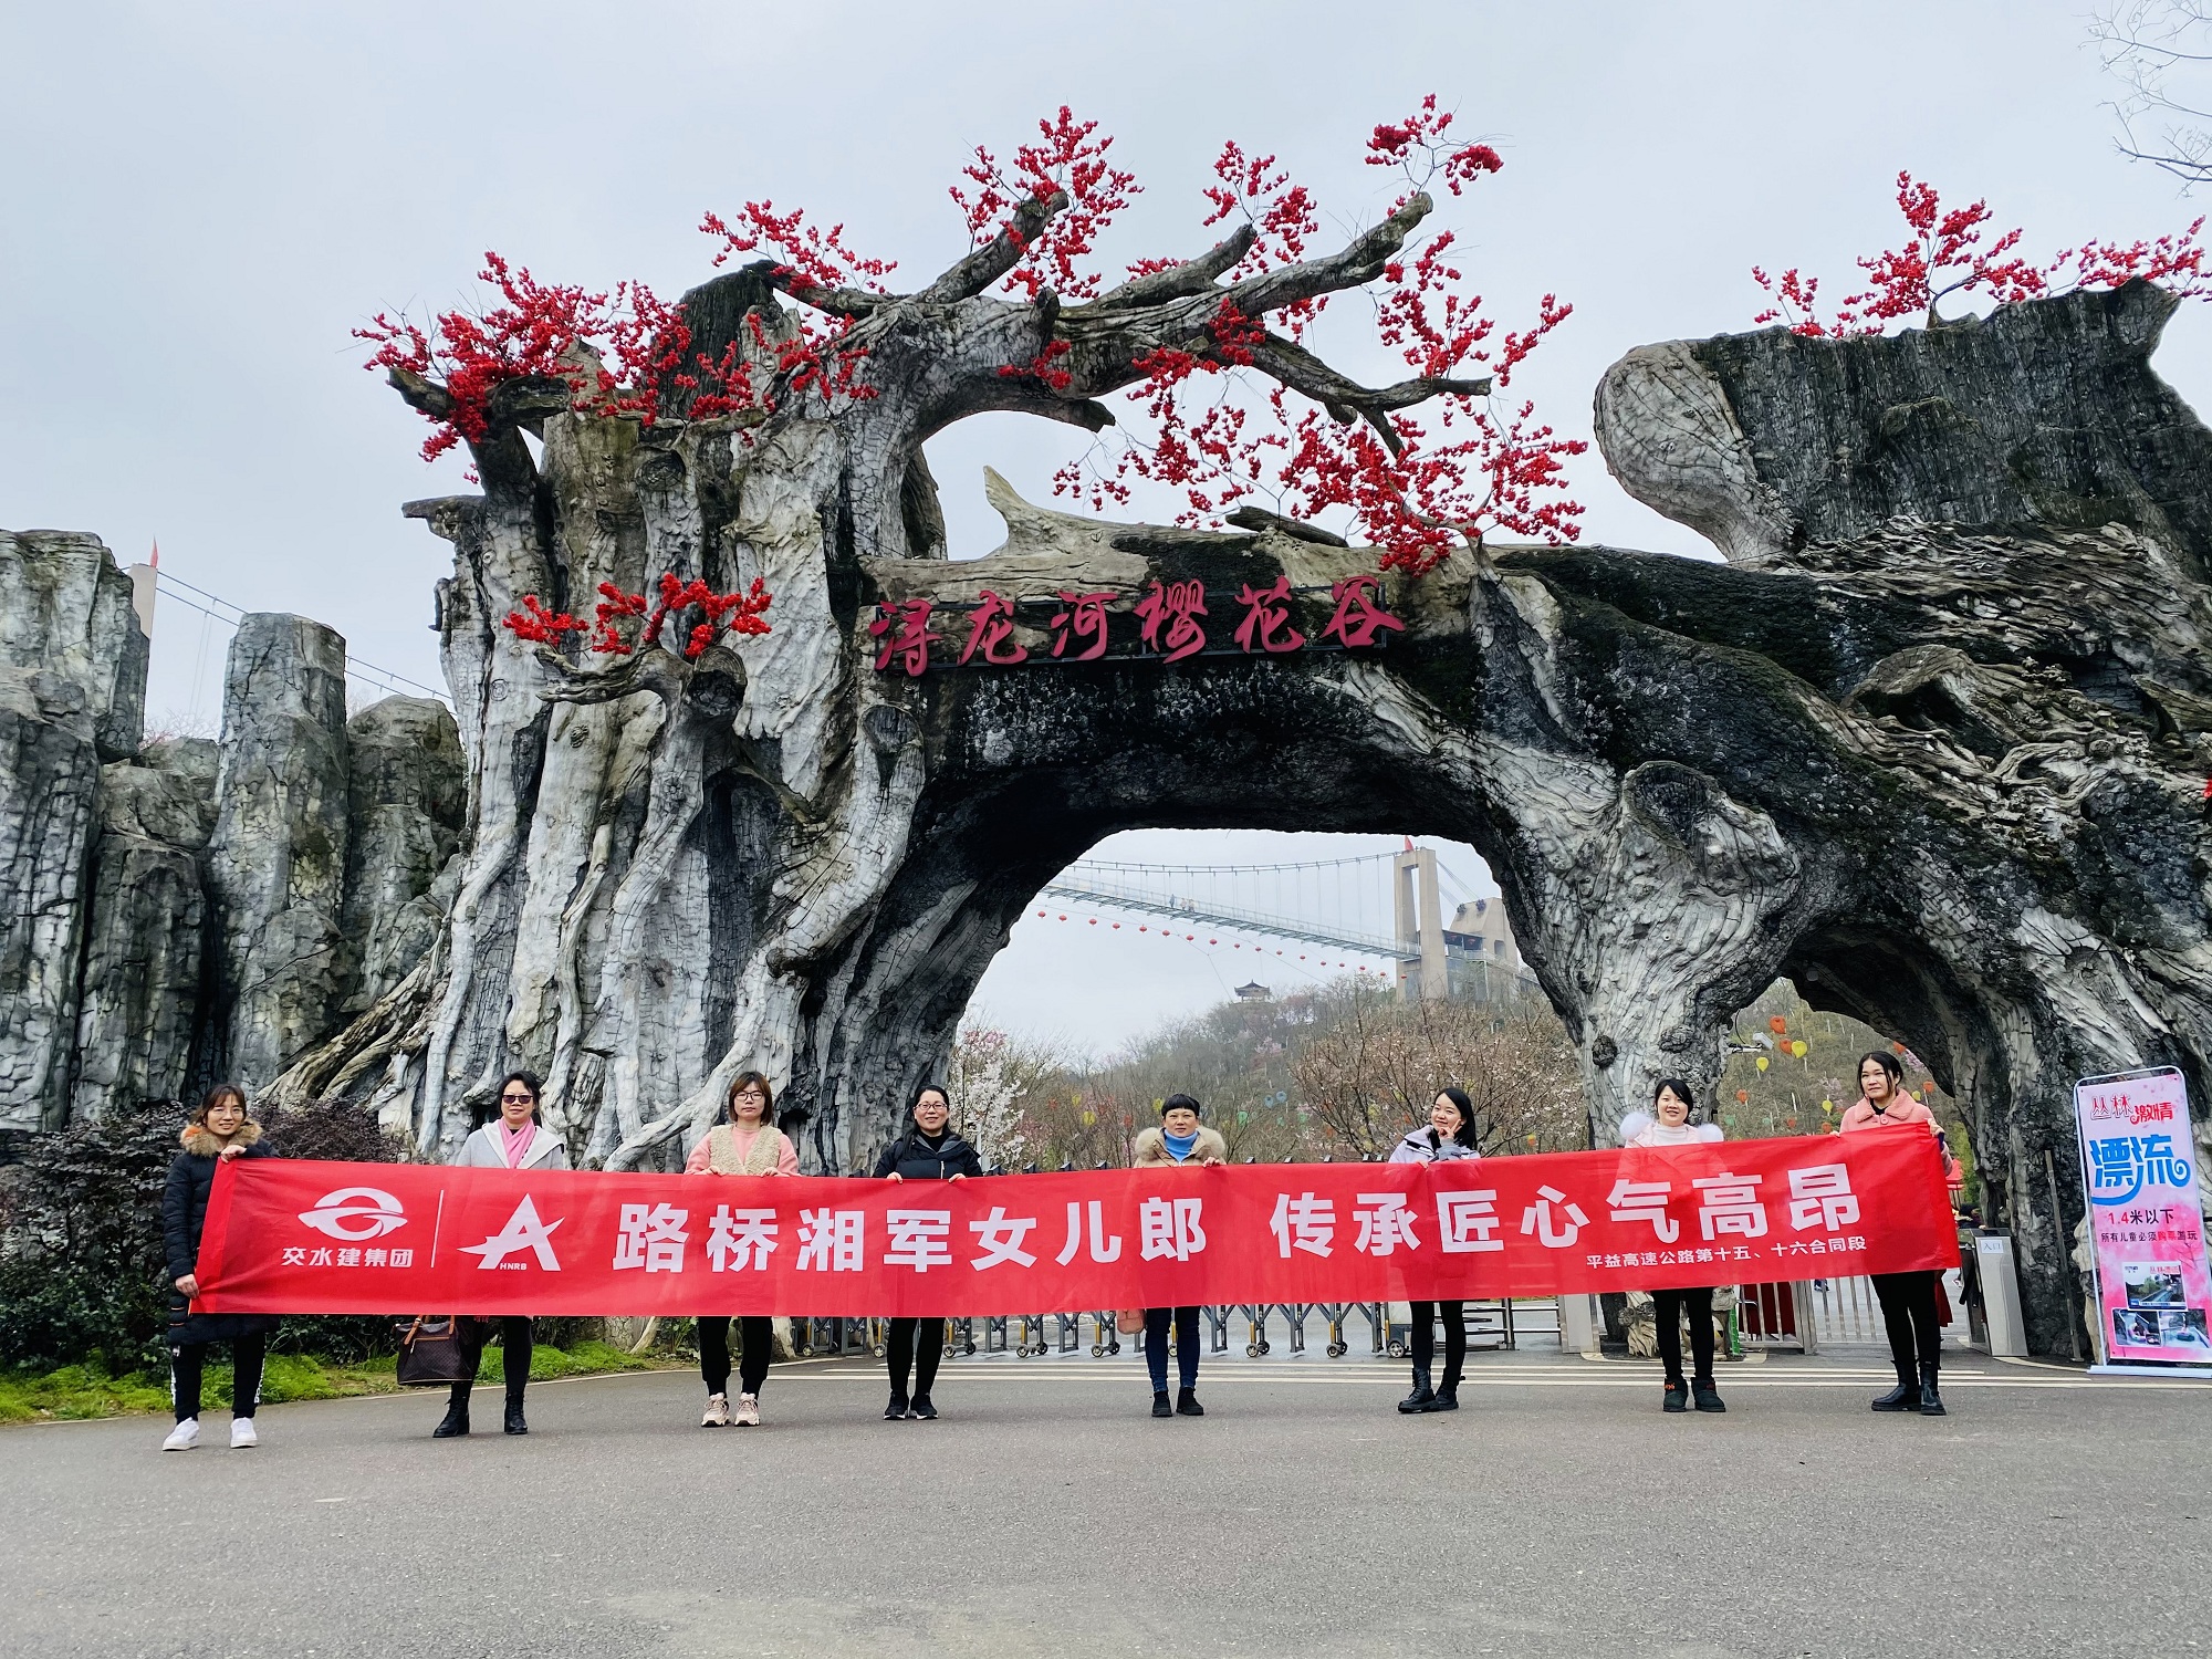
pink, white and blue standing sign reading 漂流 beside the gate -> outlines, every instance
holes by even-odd
[[[2075,1086],[2075,1121],[2106,1354],[2126,1365],[2212,1363],[2212,1272],[2181,1073],[2088,1077]]]

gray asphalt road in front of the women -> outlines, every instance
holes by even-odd
[[[1880,1418],[1869,1358],[1214,1363],[1155,1422],[1119,1360],[956,1360],[883,1422],[860,1360],[779,1367],[763,1429],[697,1378],[531,1389],[434,1442],[427,1396],[0,1431],[0,1652],[38,1655],[2188,1655],[2212,1385],[1989,1365]],[[498,1422],[495,1394],[478,1420]]]

